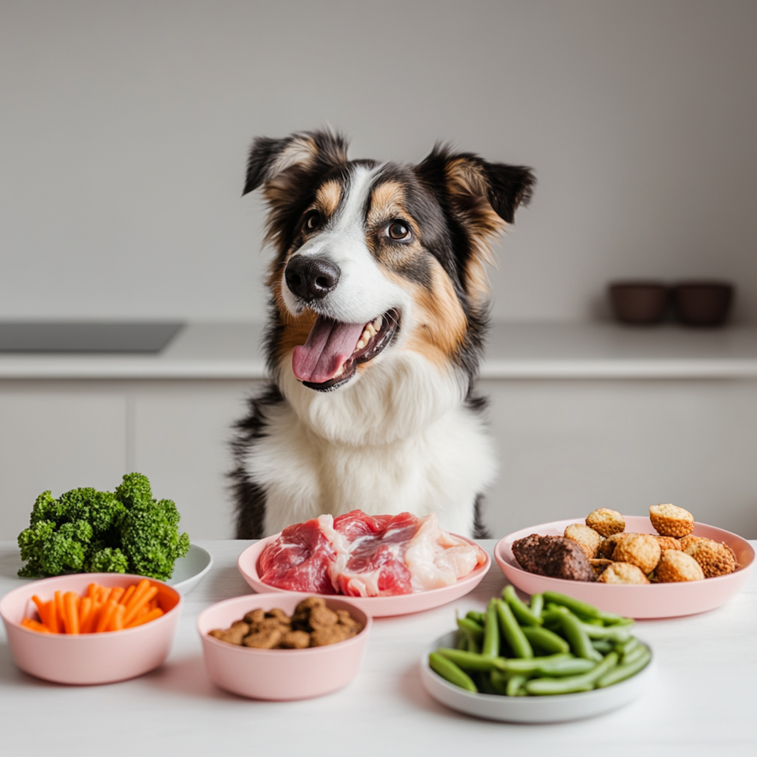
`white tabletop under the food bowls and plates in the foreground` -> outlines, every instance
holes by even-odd
[[[0,638],[4,755],[741,755],[757,754],[757,580],[720,609],[640,621],[658,674],[631,705],[585,721],[519,725],[444,708],[422,689],[418,661],[453,630],[455,610],[484,609],[506,583],[497,565],[467,597],[398,618],[377,618],[357,678],[302,702],[256,702],[207,680],[195,618],[250,593],[236,558],[248,541],[198,542],[213,570],[185,598],[176,644],[161,668],[119,684],[65,687],[19,671]],[[491,553],[494,540],[480,544]],[[755,542],[752,542],[755,544]],[[0,542],[0,593],[18,585],[13,542]]]

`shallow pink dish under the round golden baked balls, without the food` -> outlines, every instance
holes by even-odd
[[[625,530],[637,534],[656,534],[649,518],[624,516]],[[562,536],[565,526],[584,523],[582,518],[574,518],[552,523],[542,523],[515,531],[497,542],[494,559],[507,580],[527,594],[541,591],[559,591],[569,594],[599,607],[605,612],[617,612],[629,618],[674,618],[678,615],[693,615],[706,612],[726,603],[746,584],[752,572],[755,551],[749,542],[730,531],[723,531],[704,523],[696,523],[693,533],[714,541],[724,541],[734,553],[740,568],[730,575],[706,578],[704,581],[687,581],[680,584],[645,584],[643,586],[621,586],[594,584],[585,581],[565,581],[563,578],[549,578],[528,573],[518,565],[512,554],[512,542],[529,534],[540,536]]]

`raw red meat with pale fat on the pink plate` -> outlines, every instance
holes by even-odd
[[[382,597],[450,586],[485,560],[478,547],[442,531],[434,513],[353,510],[285,528],[260,556],[260,578],[292,591]]]

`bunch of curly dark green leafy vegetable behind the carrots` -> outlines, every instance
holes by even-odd
[[[23,578],[63,572],[136,573],[167,580],[189,550],[179,535],[179,512],[170,500],[152,498],[150,481],[129,473],[116,491],[73,489],[58,500],[45,491],[19,534]]]

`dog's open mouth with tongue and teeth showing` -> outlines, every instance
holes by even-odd
[[[318,316],[305,344],[294,347],[294,375],[318,391],[346,384],[358,363],[372,360],[388,347],[399,322],[397,310],[388,310],[368,323],[342,323]]]

